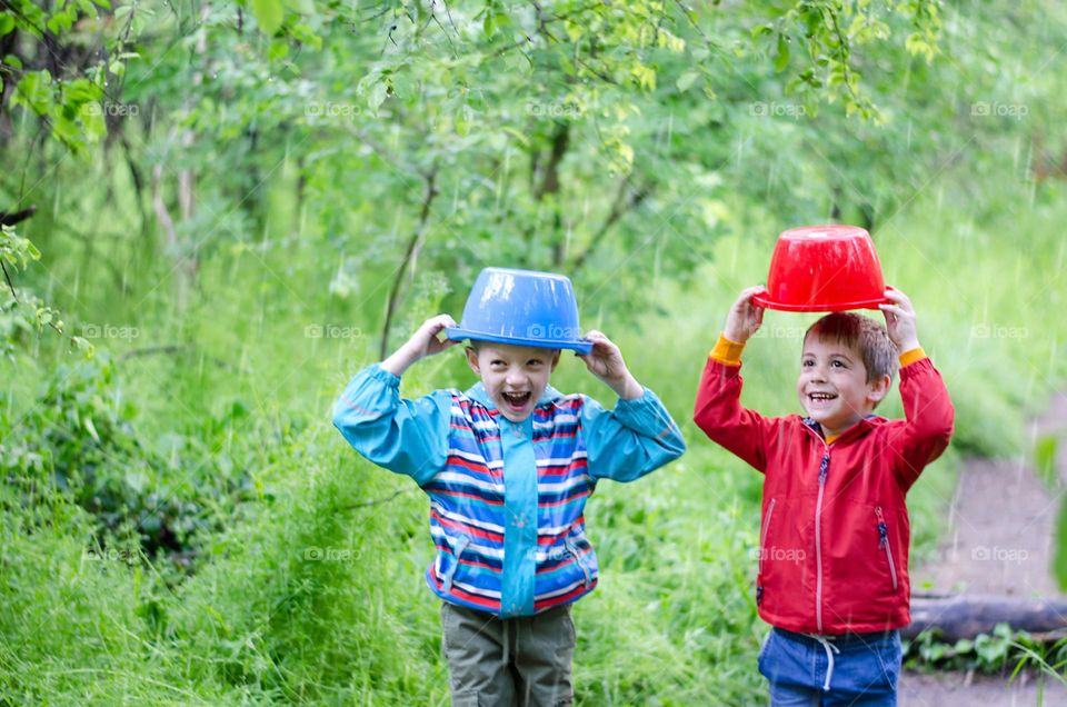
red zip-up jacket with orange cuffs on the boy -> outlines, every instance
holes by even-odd
[[[765,621],[835,635],[906,626],[905,495],[948,446],[954,410],[928,358],[900,369],[906,420],[869,416],[827,445],[814,420],[740,405],[740,366],[708,359],[694,419],[764,472],[756,603]]]

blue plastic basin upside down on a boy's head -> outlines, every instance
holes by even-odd
[[[570,280],[555,272],[486,268],[478,273],[458,327],[445,336],[541,349],[592,350],[581,338]]]

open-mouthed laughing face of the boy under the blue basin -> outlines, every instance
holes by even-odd
[[[467,364],[481,377],[492,404],[512,422],[528,418],[559,364],[559,351],[487,341],[475,346],[467,349]]]

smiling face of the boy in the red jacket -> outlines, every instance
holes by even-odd
[[[869,415],[889,392],[889,376],[867,380],[859,351],[814,333],[805,339],[797,396],[827,437],[840,435]]]

